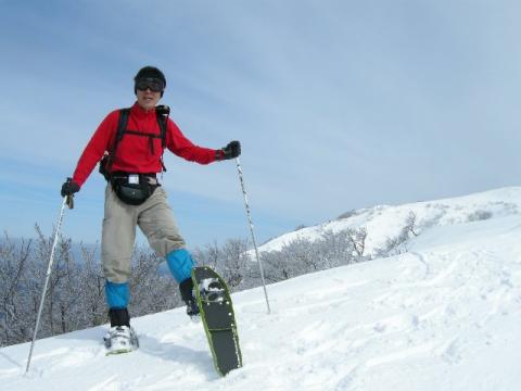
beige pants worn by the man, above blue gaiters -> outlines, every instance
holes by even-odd
[[[174,213],[162,187],[141,205],[128,205],[119,200],[111,185],[105,189],[105,215],[101,238],[103,274],[111,282],[130,278],[130,260],[136,240],[136,226],[149,240],[158,256],[183,248]]]

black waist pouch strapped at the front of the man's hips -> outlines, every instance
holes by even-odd
[[[150,184],[149,179],[142,174],[115,173],[111,176],[111,185],[119,200],[129,205],[141,205],[160,186],[157,182]],[[153,180],[156,181],[155,178]]]

